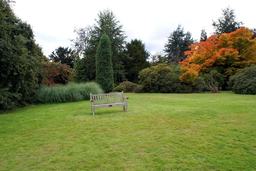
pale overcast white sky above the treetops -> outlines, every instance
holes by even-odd
[[[178,24],[199,40],[205,27],[211,35],[212,20],[221,17],[221,9],[235,9],[236,20],[256,28],[255,0],[15,0],[15,14],[31,24],[35,40],[48,56],[58,46],[71,47],[74,27],[95,23],[99,11],[111,9],[123,25],[126,41],[137,38],[154,54],[163,51],[167,37]]]

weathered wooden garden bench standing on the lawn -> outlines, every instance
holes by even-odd
[[[124,97],[123,91],[121,93],[106,93],[106,94],[90,93],[90,102],[91,102],[91,109],[92,109],[93,115],[94,115],[95,107],[123,106],[124,110],[126,109],[126,112],[128,112],[128,97]]]

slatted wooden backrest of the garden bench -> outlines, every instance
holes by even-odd
[[[124,102],[123,97],[123,91],[121,93],[90,94],[90,100],[93,100],[94,104],[121,103]]]

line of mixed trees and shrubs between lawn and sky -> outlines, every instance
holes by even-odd
[[[11,4],[11,0],[0,0],[1,110],[30,103],[42,85],[70,80],[102,82],[106,92],[125,81],[140,84],[140,92],[201,92],[203,82],[213,89],[216,83],[226,88],[230,77],[256,63],[256,29],[242,27],[244,23],[236,21],[230,7],[212,22],[215,32],[209,38],[202,29],[198,42],[178,25],[163,52],[156,54],[150,54],[138,38],[126,42],[122,24],[105,9],[93,26],[74,29],[71,48],[59,46],[46,57],[35,43],[31,26],[14,14]],[[106,64],[102,59],[110,61]]]

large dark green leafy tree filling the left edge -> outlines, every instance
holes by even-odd
[[[31,26],[18,19],[7,2],[0,0],[0,110],[30,101],[41,84],[45,59]]]

